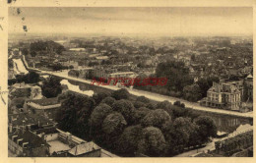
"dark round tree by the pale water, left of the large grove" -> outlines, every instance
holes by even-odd
[[[43,81],[41,87],[41,93],[46,98],[56,97],[62,92],[60,79],[56,77],[50,77],[49,80]]]

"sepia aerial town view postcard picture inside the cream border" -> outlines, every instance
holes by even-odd
[[[253,157],[253,7],[10,6],[7,30],[8,157]]]

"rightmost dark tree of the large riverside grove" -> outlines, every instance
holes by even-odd
[[[202,143],[207,142],[210,136],[217,135],[217,127],[212,118],[207,116],[200,116],[195,119],[195,124],[199,126],[199,136]]]

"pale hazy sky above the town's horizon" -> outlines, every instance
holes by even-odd
[[[9,8],[9,33],[252,35],[250,7]],[[24,19],[23,19],[24,18]]]

